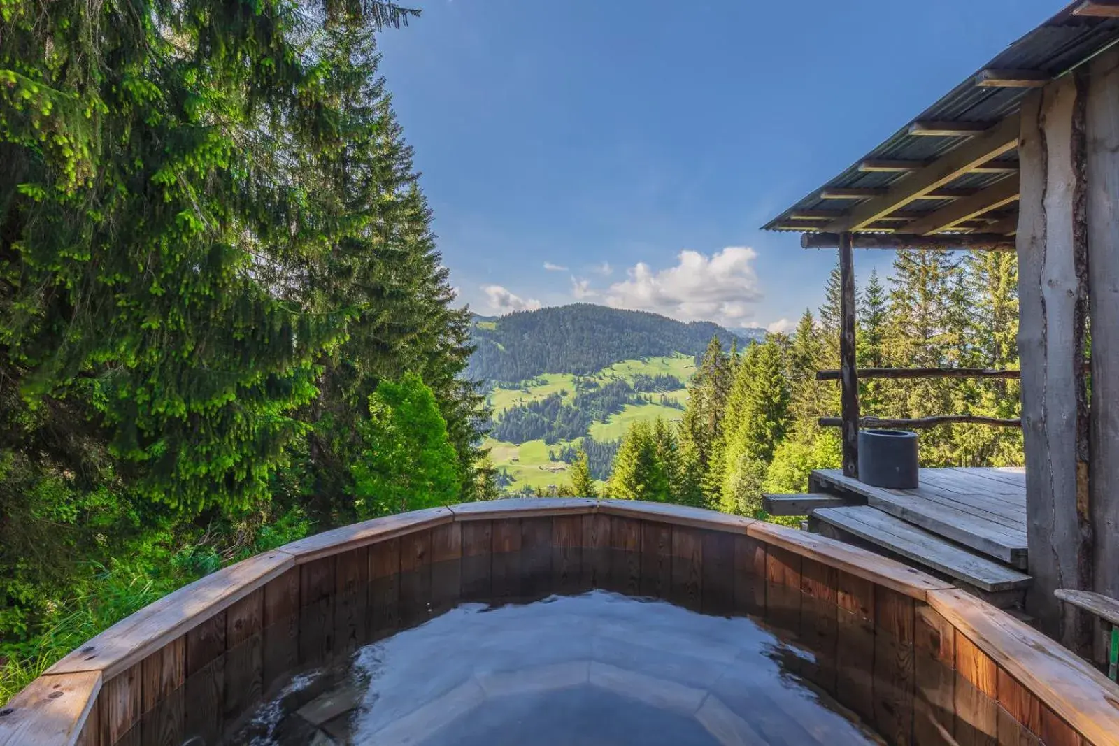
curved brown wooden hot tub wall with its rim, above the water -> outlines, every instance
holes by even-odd
[[[214,743],[288,671],[408,625],[419,602],[590,588],[744,612],[834,651],[806,678],[892,744],[1119,744],[1119,688],[911,567],[705,510],[543,499],[368,521],[207,576],[20,692],[0,746]]]

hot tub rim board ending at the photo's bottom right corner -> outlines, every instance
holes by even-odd
[[[1119,746],[1119,686],[1041,632],[962,591],[929,605],[1096,746]]]

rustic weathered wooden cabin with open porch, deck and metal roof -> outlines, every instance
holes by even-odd
[[[814,507],[812,527],[995,599],[1024,591],[1041,630],[1097,655],[1093,618],[1054,592],[1119,598],[1117,41],[1119,2],[1073,2],[765,225],[839,252],[840,369],[820,377],[843,388],[839,417],[821,421],[843,428],[843,470],[814,474],[834,500]],[[856,248],[1016,252],[1021,372],[859,370]],[[1021,422],[861,417],[861,378],[967,376],[1021,376]],[[944,422],[1022,427],[1025,469],[923,470],[913,491],[858,481],[859,427]],[[783,502],[803,499],[768,501],[788,512]]]

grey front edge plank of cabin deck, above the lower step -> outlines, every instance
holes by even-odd
[[[929,471],[933,470],[921,470],[922,479]],[[837,491],[865,497],[867,504],[895,518],[1015,567],[1026,566],[1025,526],[1000,525],[982,508],[944,498],[928,485],[916,490],[887,490],[844,476],[835,469],[816,470],[812,474],[818,482]],[[980,485],[977,492],[981,491]],[[975,502],[980,500],[976,498]]]

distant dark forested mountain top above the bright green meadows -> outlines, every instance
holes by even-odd
[[[718,334],[724,346],[761,339],[763,329],[733,333],[709,321],[685,323],[656,313],[575,303],[476,319],[478,346],[467,375],[520,381],[542,374],[589,375],[619,360],[696,356]]]

